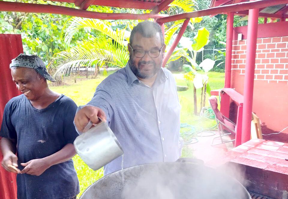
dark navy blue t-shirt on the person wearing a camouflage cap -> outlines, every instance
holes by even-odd
[[[73,144],[78,133],[73,125],[77,105],[61,95],[45,109],[32,106],[25,95],[12,98],[5,106],[0,136],[17,140],[20,163],[44,158]],[[53,165],[40,176],[17,175],[18,199],[68,199],[79,193],[72,159]]]

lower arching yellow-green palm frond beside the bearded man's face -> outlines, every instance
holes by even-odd
[[[122,35],[123,40],[124,35]],[[79,42],[77,46],[55,54],[56,64],[54,77],[59,79],[69,74],[74,67],[90,67],[91,65],[103,66],[111,63],[116,67],[124,67],[128,62],[129,54],[126,46],[119,45],[112,39],[88,40]]]

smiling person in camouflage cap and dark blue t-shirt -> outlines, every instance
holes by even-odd
[[[54,79],[40,57],[20,54],[10,69],[23,94],[5,105],[0,148],[3,168],[18,173],[17,198],[76,198],[79,183],[71,160],[78,136],[73,126],[76,104],[49,89],[46,80]]]

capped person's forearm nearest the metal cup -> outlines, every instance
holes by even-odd
[[[73,144],[65,145],[60,151],[43,158],[49,166],[56,165],[62,162],[66,162],[76,155],[76,151]]]

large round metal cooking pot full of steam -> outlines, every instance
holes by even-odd
[[[234,178],[201,164],[161,162],[104,176],[80,199],[251,199]]]

